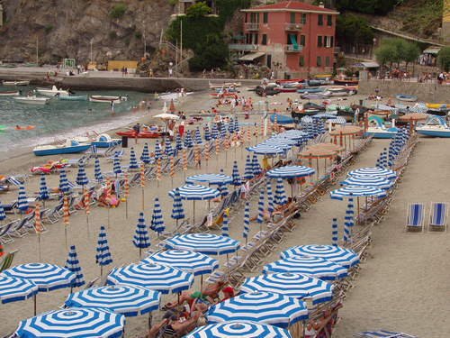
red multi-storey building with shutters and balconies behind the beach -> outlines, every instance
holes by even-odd
[[[242,12],[244,40],[229,46],[246,53],[241,60],[266,65],[277,77],[331,73],[338,12],[298,1],[262,5]]]

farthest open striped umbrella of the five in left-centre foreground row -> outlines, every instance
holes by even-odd
[[[239,242],[230,237],[212,233],[178,234],[164,241],[166,249],[197,251],[204,254],[222,255],[239,250]]]

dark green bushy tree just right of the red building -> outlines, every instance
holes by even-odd
[[[365,18],[355,14],[338,15],[336,25],[338,41],[347,43],[372,44],[374,32]]]

